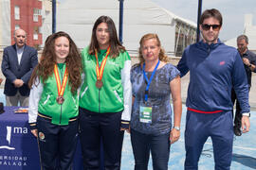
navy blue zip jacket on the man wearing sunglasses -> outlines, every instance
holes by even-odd
[[[194,110],[232,110],[234,88],[242,112],[249,112],[247,76],[238,51],[218,40],[210,45],[197,42],[188,46],[178,65],[180,76],[190,71],[186,105]]]

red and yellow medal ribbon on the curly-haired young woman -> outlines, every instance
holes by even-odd
[[[64,69],[64,80],[63,80],[62,85],[61,85],[61,78],[60,78],[60,75],[59,75],[59,72],[58,72],[57,64],[54,65],[54,75],[55,75],[55,79],[56,79],[56,83],[57,83],[58,94],[59,94],[59,96],[63,96],[65,85],[66,85],[66,82],[67,82],[67,76],[68,76],[66,67]]]

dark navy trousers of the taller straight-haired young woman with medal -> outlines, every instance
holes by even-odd
[[[123,131],[120,131],[121,112],[98,113],[80,108],[80,139],[84,170],[101,167],[101,140],[104,169],[119,170]]]

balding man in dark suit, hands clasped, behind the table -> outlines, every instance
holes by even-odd
[[[27,33],[23,29],[14,32],[15,44],[4,49],[2,72],[6,76],[5,90],[7,106],[28,106],[27,82],[38,63],[36,49],[26,44]]]

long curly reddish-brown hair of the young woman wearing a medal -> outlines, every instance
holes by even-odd
[[[28,86],[30,88],[35,83],[37,77],[39,80],[39,77],[41,77],[43,83],[45,83],[48,76],[53,74],[54,65],[57,63],[55,55],[55,40],[59,37],[65,37],[69,42],[69,54],[65,59],[65,63],[68,72],[68,84],[71,87],[71,92],[75,93],[80,87],[82,83],[82,59],[80,52],[78,51],[77,45],[75,42],[73,42],[70,36],[63,31],[60,31],[47,37],[43,54],[38,65],[33,70],[33,73],[28,82]]]

